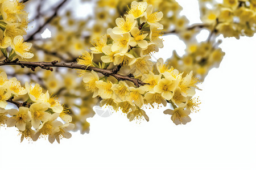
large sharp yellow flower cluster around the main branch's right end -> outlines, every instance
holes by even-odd
[[[100,96],[101,106],[111,107],[114,111],[127,114],[130,121],[145,118],[149,120],[143,107],[172,104],[171,114],[175,124],[186,124],[191,108],[196,110],[199,102],[192,99],[198,80],[193,78],[192,72],[183,76],[163,62],[160,58],[156,63],[151,61],[151,53],[163,47],[163,25],[159,21],[163,13],[153,11],[152,5],[146,2],[131,3],[125,18],[117,18],[116,27],[108,29],[106,35],[95,41],[90,48],[91,54],[85,52],[78,63],[86,67],[94,66],[101,69],[114,67],[113,73],[125,74],[130,71],[130,77],[143,82],[143,86],[125,79],[111,79],[108,75],[99,76],[95,71],[80,71],[83,76],[84,87],[93,93],[93,97]],[[101,54],[101,61],[97,65],[94,54]],[[136,86],[135,86],[136,85]],[[191,105],[189,107],[188,105]]]

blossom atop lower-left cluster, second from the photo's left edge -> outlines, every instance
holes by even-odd
[[[10,92],[16,96],[27,94],[27,91],[20,85],[20,82],[15,77],[9,80],[7,87]]]

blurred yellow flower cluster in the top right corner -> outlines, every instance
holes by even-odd
[[[201,1],[201,19],[215,27],[216,32],[224,37],[253,36],[256,25],[256,2],[250,0],[224,0],[212,3],[212,9]],[[206,10],[207,9],[207,10]]]

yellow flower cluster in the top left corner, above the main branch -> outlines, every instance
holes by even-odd
[[[0,48],[6,58],[13,59],[15,56],[32,58],[30,53],[32,46],[29,42],[23,42],[28,25],[27,12],[23,11],[24,5],[16,1],[0,1]],[[12,50],[7,54],[7,48]]]

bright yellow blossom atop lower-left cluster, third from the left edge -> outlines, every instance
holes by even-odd
[[[32,86],[32,84],[28,85],[28,82],[26,82],[25,88],[32,101],[39,103],[46,101],[46,94],[43,94],[43,89],[39,84],[36,83],[35,86]]]

